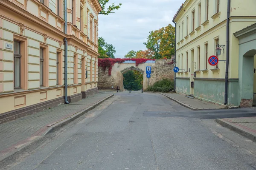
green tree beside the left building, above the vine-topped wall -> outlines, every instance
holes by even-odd
[[[108,44],[105,42],[104,38],[99,37],[99,57],[98,58],[115,58],[114,54],[116,53],[116,49],[112,44]]]

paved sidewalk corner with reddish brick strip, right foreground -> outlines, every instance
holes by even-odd
[[[217,119],[216,122],[256,142],[256,117]]]

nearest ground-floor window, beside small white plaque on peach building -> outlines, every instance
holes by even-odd
[[[21,53],[20,53],[20,41],[14,40],[14,88],[20,88],[20,73],[21,73]]]

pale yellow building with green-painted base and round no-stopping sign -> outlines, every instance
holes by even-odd
[[[247,73],[242,67],[244,54],[239,54],[241,42],[234,35],[256,23],[255,6],[255,0],[186,0],[182,4],[173,20],[176,24],[175,62],[180,68],[175,79],[177,93],[241,107],[256,102],[253,101],[253,82],[245,79],[247,74],[253,79],[253,66]],[[209,65],[208,59],[217,55],[217,47],[221,48],[220,61],[218,65]],[[254,55],[250,55],[253,59]]]

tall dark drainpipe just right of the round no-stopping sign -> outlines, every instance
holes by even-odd
[[[230,34],[230,1],[227,0],[227,54],[226,54],[226,74],[225,74],[225,102],[227,105],[228,71],[229,71],[229,34]]]

